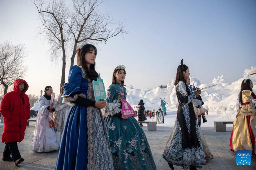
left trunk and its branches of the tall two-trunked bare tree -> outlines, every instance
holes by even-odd
[[[65,83],[66,70],[66,49],[67,42],[70,40],[70,31],[67,30],[68,8],[63,0],[52,0],[48,3],[45,9],[42,6],[46,4],[45,0],[32,1],[38,10],[41,27],[39,27],[39,35],[45,34],[50,44],[49,51],[51,52],[52,61],[57,61],[62,56],[62,86]],[[61,55],[62,54],[62,55]]]

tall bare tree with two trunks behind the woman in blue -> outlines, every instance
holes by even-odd
[[[127,33],[123,21],[114,22],[108,15],[102,15],[96,8],[101,0],[72,0],[72,6],[63,0],[31,0],[37,7],[42,22],[39,34],[45,34],[51,45],[51,58],[58,60],[62,56],[62,74],[60,87],[65,83],[66,51],[71,51],[71,64],[79,43],[84,41],[106,44],[109,38]],[[42,7],[46,5],[44,9]]]

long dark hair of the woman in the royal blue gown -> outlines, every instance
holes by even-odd
[[[87,77],[90,80],[97,80],[98,73],[95,71],[95,62],[94,62],[94,64],[90,65],[90,68],[88,68],[86,65],[85,58],[84,58],[85,54],[93,49],[97,56],[97,48],[92,44],[85,44],[81,49],[78,48],[78,50],[77,50],[77,65],[82,66],[82,68],[85,70],[85,72],[87,74]]]

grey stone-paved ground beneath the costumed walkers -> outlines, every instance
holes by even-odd
[[[4,169],[55,169],[59,151],[51,151],[45,153],[32,152],[31,133],[35,128],[35,124],[30,123],[25,131],[25,138],[18,143],[20,154],[24,158],[24,162],[15,166],[14,162],[2,161],[0,159],[0,170]],[[173,127],[157,127],[156,131],[148,131],[147,127],[142,127],[158,170],[170,169],[168,163],[164,160],[162,153],[165,148],[167,139]],[[208,142],[209,150],[214,155],[214,159],[210,160],[207,165],[203,165],[202,169],[256,169],[256,156],[252,155],[251,165],[236,165],[236,152],[230,151],[229,140],[232,131],[231,127],[227,127],[227,132],[215,132],[214,127],[202,127],[202,132]],[[0,129],[0,134],[3,128]],[[5,144],[1,142],[0,153],[3,153]],[[2,158],[2,157],[0,157]],[[183,169],[183,167],[175,166],[175,169]]]

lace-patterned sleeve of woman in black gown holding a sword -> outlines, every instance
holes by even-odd
[[[191,95],[188,95],[186,85],[183,81],[179,81],[176,85],[176,94],[180,106],[187,105],[192,101],[192,99],[196,98],[196,94],[194,92],[192,92]]]

